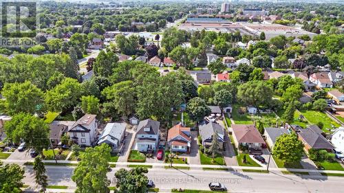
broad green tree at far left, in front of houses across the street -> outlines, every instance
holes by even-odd
[[[25,146],[33,148],[43,155],[43,149],[50,146],[50,129],[44,120],[34,115],[19,113],[6,122],[4,126],[9,141],[19,144],[25,141]]]

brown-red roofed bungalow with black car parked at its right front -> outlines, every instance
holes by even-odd
[[[250,154],[261,155],[261,148],[265,145],[265,141],[254,125],[233,124],[232,129],[236,148],[247,149]]]

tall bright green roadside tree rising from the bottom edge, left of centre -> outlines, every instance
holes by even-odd
[[[77,193],[109,192],[107,170],[110,152],[111,148],[107,144],[86,148],[83,159],[78,163],[72,175]]]

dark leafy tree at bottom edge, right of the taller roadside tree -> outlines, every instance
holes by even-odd
[[[125,168],[121,168],[115,173],[115,177],[118,180],[118,183],[116,184],[116,187],[119,188],[118,192],[147,192],[148,178],[145,176],[147,173],[147,168],[138,167],[129,171],[125,170]]]

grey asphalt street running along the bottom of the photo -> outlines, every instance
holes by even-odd
[[[67,185],[74,187],[70,179],[74,168],[61,166],[46,166],[50,185]],[[113,168],[108,173],[112,185],[116,182],[114,173],[119,168]],[[34,185],[32,166],[27,166],[25,184]],[[343,192],[343,177],[298,177],[295,175],[281,175],[270,172],[224,172],[203,170],[162,170],[151,169],[147,174],[155,182],[155,187],[161,189],[184,188],[208,190],[208,183],[219,182],[226,185],[230,192]]]

